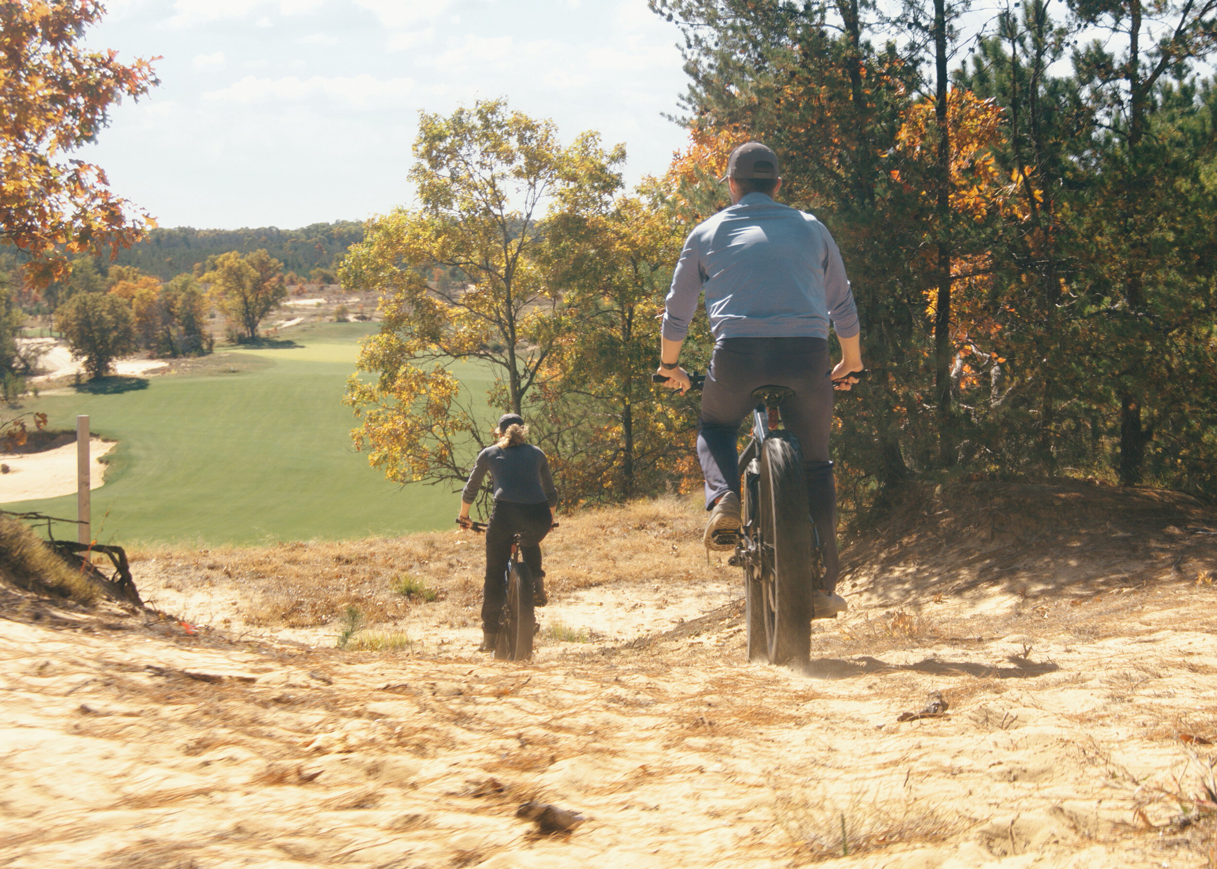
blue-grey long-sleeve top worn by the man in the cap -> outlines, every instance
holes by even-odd
[[[836,242],[813,215],[748,194],[699,224],[672,275],[663,337],[682,341],[706,293],[714,338],[828,338],[858,333]]]

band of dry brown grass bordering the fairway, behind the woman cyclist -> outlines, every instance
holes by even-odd
[[[561,528],[543,544],[551,600],[578,589],[632,587],[622,605],[649,606],[656,585],[696,587],[722,578],[725,559],[707,564],[699,543],[705,511],[695,500],[673,497],[576,510],[560,520]],[[157,545],[129,557],[138,582],[155,572],[166,589],[214,589],[230,596],[235,612],[229,623],[336,627],[337,633],[347,607],[354,607],[365,634],[374,627],[396,629],[416,618],[411,613],[417,607],[426,607],[425,618],[434,624],[476,624],[484,568],[483,538],[458,531],[212,550]],[[204,623],[225,623],[223,611],[200,616]],[[402,639],[382,639],[385,647],[408,646]],[[568,639],[595,638],[573,629]]]

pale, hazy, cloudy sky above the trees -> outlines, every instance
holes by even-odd
[[[504,96],[624,142],[627,180],[685,134],[680,34],[646,0],[108,0],[88,45],[161,86],[84,150],[162,226],[297,228],[410,201],[419,110]]]

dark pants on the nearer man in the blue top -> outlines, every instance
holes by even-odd
[[[738,441],[740,422],[756,402],[758,386],[786,386],[795,397],[781,419],[803,452],[808,510],[824,550],[824,590],[837,579],[836,484],[829,459],[832,428],[832,364],[824,338],[724,338],[714,346],[697,424],[697,459],[706,477],[706,509],[740,494]]]

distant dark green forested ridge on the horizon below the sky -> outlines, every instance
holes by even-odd
[[[236,251],[267,251],[287,271],[308,277],[313,269],[332,269],[347,248],[363,241],[364,225],[354,220],[315,223],[303,229],[153,229],[145,241],[120,251],[118,265],[134,265],[145,274],[169,280],[192,273],[207,257]],[[105,268],[105,267],[102,267]]]

